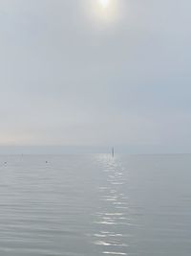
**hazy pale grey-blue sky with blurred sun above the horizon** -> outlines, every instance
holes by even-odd
[[[191,152],[190,9],[1,0],[0,152]]]

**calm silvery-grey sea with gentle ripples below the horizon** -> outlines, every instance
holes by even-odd
[[[1,256],[188,256],[191,155],[0,156]]]

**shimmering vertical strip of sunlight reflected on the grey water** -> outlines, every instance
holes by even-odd
[[[102,255],[136,255],[130,253],[127,229],[134,225],[128,217],[128,198],[123,190],[128,185],[123,167],[117,158],[102,155],[99,158],[103,165],[105,185],[97,187],[101,207],[95,214],[97,232],[94,234],[94,244]]]

